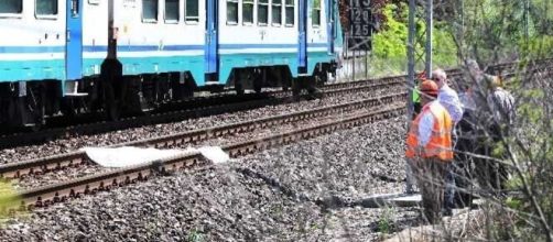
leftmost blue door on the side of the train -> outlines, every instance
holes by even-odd
[[[83,77],[83,0],[66,1],[66,79],[76,80]]]

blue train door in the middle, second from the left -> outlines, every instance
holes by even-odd
[[[206,0],[205,73],[216,74],[218,68],[218,1]]]

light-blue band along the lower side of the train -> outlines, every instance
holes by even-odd
[[[292,75],[297,75],[295,53],[223,54],[219,58],[219,79],[221,82],[227,80],[234,67],[288,65]],[[328,55],[326,51],[310,52],[308,69],[313,70],[316,63],[329,62],[332,58],[334,56]],[[86,77],[99,74],[102,61],[102,58],[83,59],[83,75]],[[123,57],[120,61],[123,64],[124,75],[189,70],[197,84],[199,86],[204,85],[204,55],[147,58]],[[64,59],[0,61],[0,81],[41,79],[65,79]]]

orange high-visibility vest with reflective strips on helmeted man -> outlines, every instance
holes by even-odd
[[[423,147],[419,145],[419,122],[426,112],[431,112],[432,117],[434,117],[434,127],[432,128],[429,143]],[[442,105],[432,105],[431,102],[424,106],[421,113],[411,124],[408,133],[408,150],[405,155],[410,158],[436,157],[444,162],[452,161],[452,118]]]

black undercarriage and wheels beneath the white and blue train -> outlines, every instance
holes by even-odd
[[[316,86],[327,80],[332,65],[317,65],[313,75],[293,78],[288,66],[246,67],[232,69],[226,85],[198,87],[191,73],[165,73],[122,76],[119,62],[106,61],[101,75],[79,81],[19,81],[0,84],[0,124],[2,129],[26,127],[39,130],[48,117],[104,114],[107,120],[137,116],[169,102],[194,97],[198,90],[234,89],[261,92],[263,87],[302,90],[316,95]],[[65,95],[62,95],[64,94]]]

